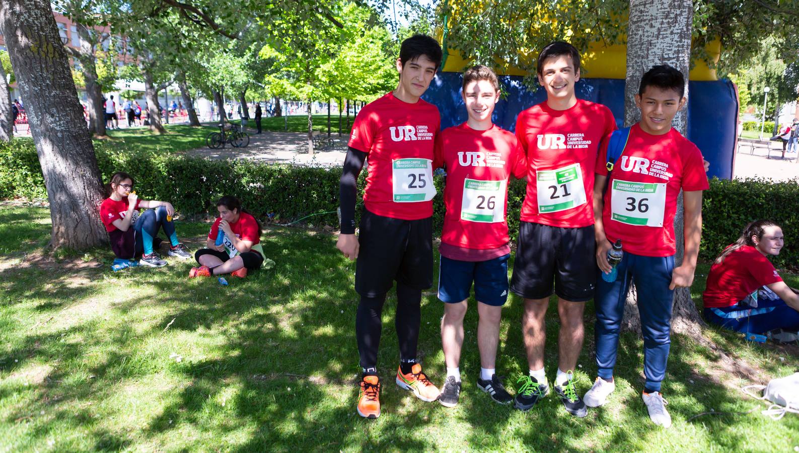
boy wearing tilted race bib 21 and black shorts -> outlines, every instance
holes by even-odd
[[[516,120],[528,173],[511,291],[524,298],[522,335],[530,373],[519,379],[515,407],[527,411],[549,393],[544,316],[555,292],[560,316],[555,393],[566,411],[584,417],[586,405],[574,390],[572,370],[582,350],[583,308],[594,292],[594,162],[616,122],[605,105],[574,93],[580,79],[574,46],[553,42],[544,47],[538,77],[547,101]]]

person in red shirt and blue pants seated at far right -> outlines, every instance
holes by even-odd
[[[772,221],[754,221],[721,252],[702,294],[705,319],[737,332],[799,330],[799,296],[767,256],[780,254],[785,238]]]

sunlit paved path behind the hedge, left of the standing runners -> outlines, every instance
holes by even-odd
[[[249,130],[248,130],[249,133]],[[327,135],[327,133],[324,133]],[[190,149],[189,156],[210,157],[212,159],[251,159],[253,161],[278,164],[308,165],[314,167],[335,167],[344,164],[348,136],[333,133],[334,146],[328,150],[318,150],[308,155],[308,134],[300,132],[250,133],[250,143],[246,148],[233,148],[225,145],[223,149],[207,147]]]

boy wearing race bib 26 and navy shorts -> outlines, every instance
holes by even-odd
[[[507,300],[507,181],[527,173],[524,150],[513,133],[491,122],[499,101],[499,80],[486,66],[463,74],[468,119],[441,133],[440,158],[447,170],[444,225],[441,233],[439,299],[444,304],[441,342],[447,380],[439,402],[455,407],[460,395],[463,316],[475,284],[479,324],[480,377],[477,386],[497,403],[513,401],[495,374],[499,320]]]

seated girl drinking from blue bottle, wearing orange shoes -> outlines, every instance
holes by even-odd
[[[238,198],[230,195],[221,197],[217,201],[217,211],[219,217],[213,222],[205,240],[206,248],[194,254],[201,265],[189,271],[189,278],[219,274],[244,278],[248,269],[260,268],[264,263],[264,249],[260,247],[260,223],[241,207]]]

